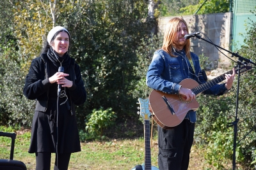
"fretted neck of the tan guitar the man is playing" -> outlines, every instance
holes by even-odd
[[[200,94],[202,92],[204,92],[207,89],[210,89],[212,86],[220,83],[221,81],[225,80],[225,74],[233,74],[233,71],[230,70],[227,73],[221,74],[220,76],[207,81],[206,83],[202,84],[202,85],[198,85],[198,87],[195,87],[192,90],[192,92],[194,92],[196,95]]]

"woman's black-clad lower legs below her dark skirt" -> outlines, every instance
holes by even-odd
[[[58,154],[55,157],[54,170],[67,170],[71,153]],[[50,170],[51,169],[51,152],[38,152],[36,153],[36,170]]]

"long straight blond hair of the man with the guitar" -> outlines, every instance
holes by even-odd
[[[175,37],[174,37],[175,32],[178,31],[178,27],[179,27],[179,24],[181,24],[181,22],[183,22],[186,25],[187,30],[188,30],[188,25],[187,25],[186,21],[181,17],[172,18],[166,24],[162,49],[165,52],[169,53],[172,57],[177,57],[176,55],[173,54],[172,45],[173,45],[173,41],[175,39]],[[184,48],[185,48],[185,52],[186,52],[186,55],[187,55],[188,59],[191,59],[189,39],[187,40],[187,43],[184,46]]]

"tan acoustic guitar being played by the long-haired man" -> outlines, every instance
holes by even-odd
[[[252,66],[250,66],[250,64],[244,63],[244,66],[240,67],[240,73],[248,71],[251,68]],[[235,69],[237,74],[238,67],[236,66]],[[221,74],[220,76],[201,85],[199,85],[197,81],[187,78],[180,81],[179,85],[182,85],[184,88],[191,89],[192,92],[198,96],[205,90],[210,89],[212,86],[225,80],[225,74],[232,73],[233,71],[230,70],[227,73]],[[149,102],[150,111],[152,112],[154,120],[164,129],[172,129],[179,125],[182,120],[184,120],[189,110],[196,111],[199,107],[199,103],[196,99],[186,101],[186,99],[184,99],[180,94],[166,94],[157,90],[152,90],[149,96]]]

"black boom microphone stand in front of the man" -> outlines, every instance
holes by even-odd
[[[225,50],[228,53],[231,53],[232,57],[235,56],[235,57],[238,58],[237,59],[237,64],[238,64],[238,80],[237,80],[237,93],[236,93],[236,117],[235,117],[234,122],[228,123],[230,125],[227,126],[227,127],[234,126],[234,143],[233,143],[233,161],[232,161],[232,164],[233,164],[233,170],[235,170],[236,169],[237,123],[239,122],[239,118],[237,118],[237,111],[238,111],[238,98],[239,98],[238,96],[239,96],[239,84],[240,84],[240,68],[241,68],[241,65],[243,64],[243,60],[248,62],[248,63],[253,64],[254,66],[256,66],[256,64],[254,62],[252,62],[251,60],[245,59],[244,57],[242,57],[238,53],[230,52],[230,51],[226,50],[225,48],[222,48],[221,46],[215,45],[211,41],[207,41],[206,39],[202,38],[201,36],[195,35],[195,37],[198,38],[198,39],[202,39],[202,40],[206,41],[207,43],[210,43],[211,45],[214,45],[214,46],[216,46],[218,48],[221,48],[222,50]]]

